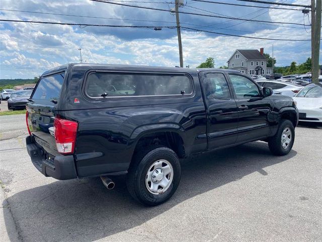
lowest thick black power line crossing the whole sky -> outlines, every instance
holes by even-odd
[[[4,22],[20,22],[20,23],[36,23],[36,24],[58,24],[58,25],[71,25],[71,26],[94,26],[94,27],[118,27],[118,28],[168,28],[175,29],[177,26],[133,26],[133,25],[105,25],[105,24],[75,24],[75,23],[59,23],[59,22],[42,22],[42,21],[27,21],[27,20],[9,20],[9,19],[0,19],[0,21]],[[205,33],[213,33],[219,35],[227,35],[241,38],[250,38],[250,39],[265,39],[265,40],[281,40],[281,41],[310,41],[310,39],[275,39],[275,38],[261,38],[261,37],[251,37],[251,36],[243,36],[243,35],[235,35],[235,34],[226,34],[219,33],[201,29],[194,29],[189,27],[181,27],[182,29],[192,30],[197,32],[205,32]]]

